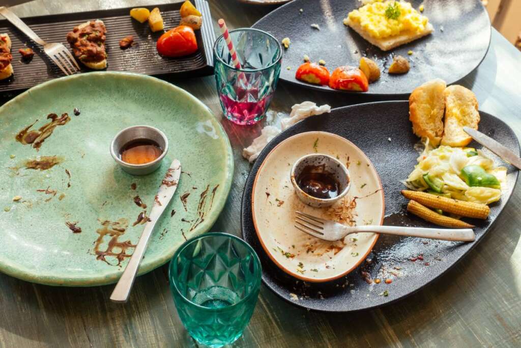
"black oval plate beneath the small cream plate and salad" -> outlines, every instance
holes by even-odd
[[[460,260],[487,233],[491,224],[503,210],[517,181],[518,171],[507,165],[506,187],[499,202],[491,205],[490,217],[485,221],[472,221],[477,227],[476,241],[472,243],[433,241],[430,239],[380,235],[369,254],[370,262],[362,263],[346,277],[327,283],[305,283],[276,267],[258,241],[252,221],[252,187],[255,175],[266,155],[282,140],[305,131],[321,130],[351,140],[373,162],[384,188],[386,201],[385,225],[430,226],[423,220],[405,212],[407,200],[400,191],[405,179],[417,163],[418,153],[413,149],[418,138],[408,120],[408,102],[377,102],[334,109],[330,114],[312,116],[287,129],[264,148],[247,178],[242,197],[242,236],[261,258],[263,282],[277,295],[292,304],[320,311],[348,312],[389,304],[438,278]],[[515,153],[520,153],[514,131],[500,119],[480,112],[479,130],[501,142]],[[469,146],[481,148],[476,142]],[[313,149],[309,149],[313,152]],[[497,164],[503,164],[486,150]],[[356,164],[351,164],[356,165]],[[417,259],[422,255],[423,260]],[[368,284],[362,272],[371,278],[382,279],[380,284]],[[382,274],[383,272],[383,274]],[[386,275],[394,279],[384,284]],[[383,292],[388,290],[388,296]],[[295,301],[291,294],[299,299]]]

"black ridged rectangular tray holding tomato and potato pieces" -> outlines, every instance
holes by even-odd
[[[158,7],[163,16],[165,30],[179,25],[181,16],[179,9],[182,3],[151,5],[152,10]],[[203,15],[201,30],[195,30],[199,50],[196,53],[180,58],[163,58],[157,53],[156,41],[163,31],[153,33],[148,23],[140,23],[129,15],[129,8],[97,10],[72,14],[48,15],[23,18],[23,21],[46,42],[61,42],[70,47],[67,33],[75,26],[88,20],[101,19],[107,28],[107,70],[130,71],[157,77],[183,76],[195,77],[213,74],[213,44],[215,33],[212,27],[210,8],[205,0],[195,0],[195,6]],[[39,83],[65,76],[61,70],[47,57],[41,46],[33,43],[25,34],[16,29],[7,20],[0,21],[0,33],[8,33],[13,47],[14,74],[0,81],[0,95],[8,97],[7,92],[21,91]],[[127,35],[133,35],[134,45],[126,50],[119,48],[119,41]],[[30,63],[21,61],[18,49],[31,47],[34,58]],[[80,64],[82,73],[92,71]]]

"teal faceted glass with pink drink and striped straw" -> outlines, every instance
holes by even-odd
[[[277,87],[282,47],[277,39],[257,29],[230,31],[241,68],[235,68],[226,40],[214,44],[214,72],[222,111],[232,122],[251,125],[268,110]]]

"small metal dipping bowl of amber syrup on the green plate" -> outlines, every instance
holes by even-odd
[[[163,152],[152,162],[144,164],[131,164],[121,160],[121,149],[132,141],[152,140],[157,143]],[[122,129],[110,143],[110,154],[121,168],[132,175],[146,175],[157,170],[161,161],[168,152],[168,139],[159,129],[152,126],[132,126]]]

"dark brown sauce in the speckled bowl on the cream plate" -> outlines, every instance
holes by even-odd
[[[309,196],[320,199],[334,198],[339,195],[340,184],[334,175],[325,170],[325,165],[307,165],[304,167],[296,184]]]

